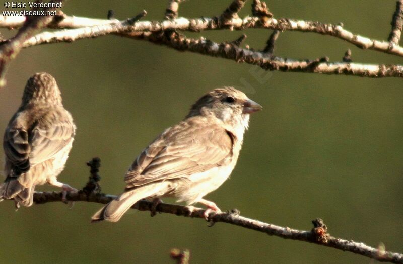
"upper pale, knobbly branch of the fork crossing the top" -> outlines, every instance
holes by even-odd
[[[0,27],[18,27],[22,21],[20,16],[5,17],[0,16]],[[319,33],[345,40],[362,49],[376,50],[396,56],[403,56],[403,47],[397,44],[390,44],[387,41],[370,39],[354,34],[343,28],[342,25],[323,24],[319,22],[293,20],[293,19],[275,19],[268,18],[261,21],[258,17],[233,18],[225,25],[217,18],[187,19],[178,18],[174,20],[164,20],[161,22],[140,21],[133,25],[118,25],[116,20],[88,19],[83,17],[66,17],[59,23],[60,28],[81,28],[79,30],[64,30],[56,32],[43,32],[26,41],[24,47],[40,45],[45,43],[57,43],[61,41],[70,42],[71,39],[80,39],[87,37],[96,37],[110,33],[124,32],[158,32],[162,30],[182,30],[190,32],[200,32],[203,30],[220,30],[231,26],[235,30],[247,28],[264,28],[280,31],[301,31]],[[108,25],[110,24],[110,25]],[[116,24],[116,25],[115,25]],[[52,26],[54,26],[52,24]],[[85,35],[83,35],[86,33]],[[82,36],[82,37],[80,37]],[[64,39],[64,40],[63,40]]]

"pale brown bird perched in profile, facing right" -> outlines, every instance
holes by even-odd
[[[238,160],[249,115],[262,106],[234,87],[220,87],[192,105],[188,115],[166,129],[129,167],[126,187],[92,217],[116,222],[141,199],[160,202],[174,197],[177,202],[200,203],[211,211],[218,206],[203,197],[220,187]],[[193,207],[194,209],[194,207]]]

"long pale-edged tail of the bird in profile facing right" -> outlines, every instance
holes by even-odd
[[[157,182],[126,191],[96,212],[91,223],[102,220],[117,222],[133,204],[143,198],[162,196],[169,191],[169,185],[169,181]]]

